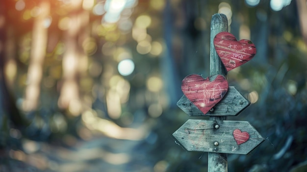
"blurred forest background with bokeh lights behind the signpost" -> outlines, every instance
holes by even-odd
[[[228,73],[266,139],[229,172],[307,171],[306,0],[0,0],[0,172],[205,172],[172,133],[210,20],[257,54]]]

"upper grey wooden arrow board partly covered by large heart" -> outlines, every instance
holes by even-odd
[[[225,97],[204,114],[185,95],[177,102],[177,106],[189,116],[236,116],[251,103],[244,98],[235,87],[229,87]]]

